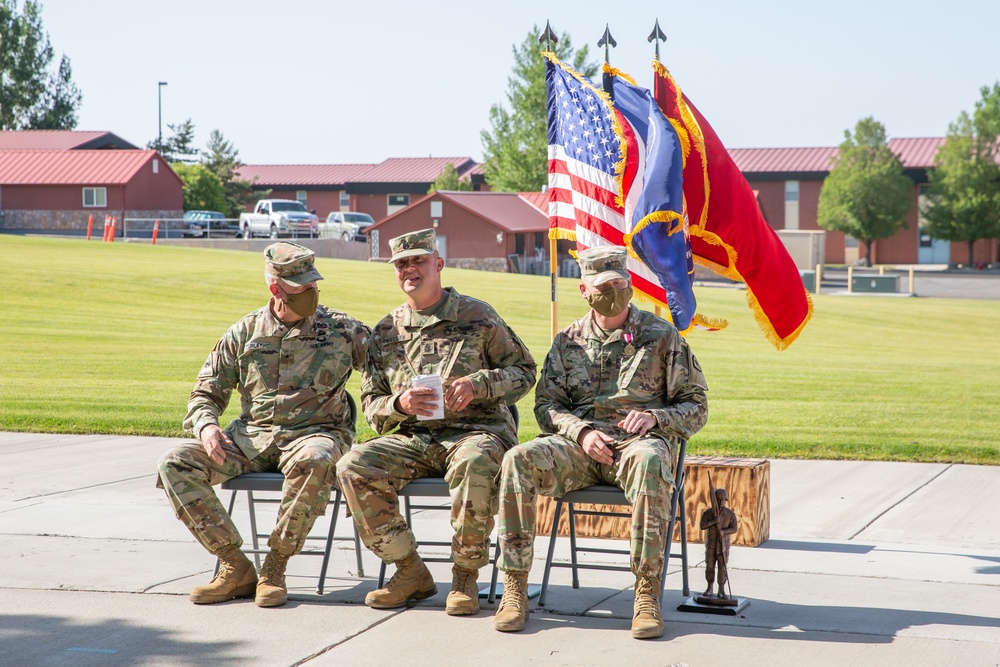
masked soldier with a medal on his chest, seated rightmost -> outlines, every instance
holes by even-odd
[[[591,312],[556,335],[535,389],[543,435],[512,449],[500,472],[500,569],[506,573],[497,630],[528,618],[535,501],[594,484],[621,488],[632,503],[636,575],[632,636],[663,634],[663,572],[669,498],[680,438],[704,424],[705,376],[668,322],[629,305],[625,248],[579,255],[580,292]]]

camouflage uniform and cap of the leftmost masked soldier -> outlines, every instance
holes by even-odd
[[[294,244],[274,244],[269,250],[277,245]],[[311,268],[312,252],[295,248],[308,252]],[[313,273],[313,280],[318,279]],[[268,545],[294,555],[324,513],[336,462],[354,439],[344,385],[352,368],[364,366],[368,327],[319,306],[289,328],[274,316],[273,306],[271,299],[229,328],[191,392],[184,429],[196,435],[209,424],[218,425],[233,390],[239,392],[240,416],[226,428],[233,443],[223,446],[226,460],[213,462],[200,442],[192,442],[171,449],[158,463],[157,486],[166,490],[177,517],[213,554],[239,547],[243,540],[212,486],[248,472],[284,473],[278,521]]]

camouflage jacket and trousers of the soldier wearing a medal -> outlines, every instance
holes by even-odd
[[[620,487],[633,505],[633,572],[659,577],[677,442],[705,424],[706,390],[677,330],[633,305],[610,333],[595,324],[593,311],[559,332],[535,389],[535,417],[551,435],[512,449],[500,473],[500,569],[531,568],[537,494],[558,497],[603,483]],[[644,437],[618,428],[630,410],[655,417]],[[613,464],[598,463],[578,444],[587,428],[628,443]]]

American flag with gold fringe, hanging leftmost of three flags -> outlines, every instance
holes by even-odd
[[[616,169],[638,169],[637,152],[624,151],[619,138],[627,140],[630,128],[622,125],[606,93],[551,54],[546,57],[549,236],[576,241],[577,250],[625,246],[630,227]],[[627,267],[636,294],[666,307],[656,275],[632,256]]]

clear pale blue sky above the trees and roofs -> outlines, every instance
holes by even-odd
[[[943,136],[1000,79],[1000,2],[42,0],[83,92],[78,129],[145,145],[168,123],[219,129],[250,164],[482,158],[513,58],[546,19],[652,85],[647,43],[731,148],[832,146],[865,116]]]

